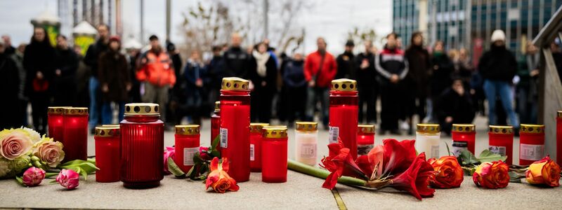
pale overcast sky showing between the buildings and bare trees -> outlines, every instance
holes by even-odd
[[[69,1],[69,3],[72,1]],[[138,38],[139,1],[123,0],[124,35]],[[184,41],[178,32],[181,24],[181,12],[197,3],[196,0],[172,0],[171,38],[177,43]],[[205,1],[203,1],[205,2]],[[230,1],[233,3],[236,1]],[[343,50],[346,33],[353,27],[374,28],[377,34],[391,31],[391,0],[313,0],[313,8],[306,9],[296,19],[299,27],[306,28],[305,49],[311,52],[315,48],[315,38],[324,36],[328,50],[339,54]],[[17,0],[0,1],[0,34],[12,36],[13,44],[27,43],[32,35],[30,20],[44,10],[57,14],[56,0]],[[145,36],[148,34],[165,34],[165,4],[161,0],[145,0]],[[270,20],[274,25],[275,20]],[[70,35],[65,29],[63,33]]]

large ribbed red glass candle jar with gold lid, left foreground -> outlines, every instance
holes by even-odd
[[[158,104],[125,104],[120,125],[123,186],[159,186],[164,178],[164,122],[160,120]]]

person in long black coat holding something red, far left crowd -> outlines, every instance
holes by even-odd
[[[26,70],[26,92],[32,106],[33,127],[39,134],[47,129],[47,107],[51,99],[49,88],[55,74],[55,48],[44,28],[36,27],[30,45],[25,47],[23,66]]]

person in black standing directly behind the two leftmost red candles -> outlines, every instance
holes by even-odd
[[[69,48],[66,36],[57,36],[57,57],[53,78],[53,105],[76,106],[78,55]]]

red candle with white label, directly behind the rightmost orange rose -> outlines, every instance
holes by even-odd
[[[521,124],[519,130],[519,165],[544,158],[544,125]]]

